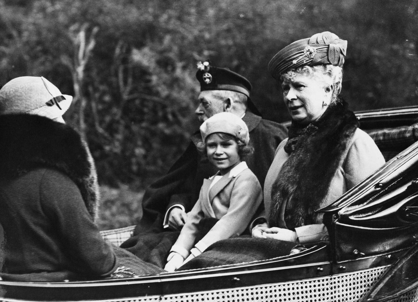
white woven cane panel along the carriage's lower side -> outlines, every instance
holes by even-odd
[[[130,299],[94,300],[94,302],[358,302],[386,269],[387,267],[378,267],[361,272],[257,287]],[[14,302],[16,300],[0,298],[0,302],[3,301]],[[418,291],[415,289],[391,301],[417,302]]]

